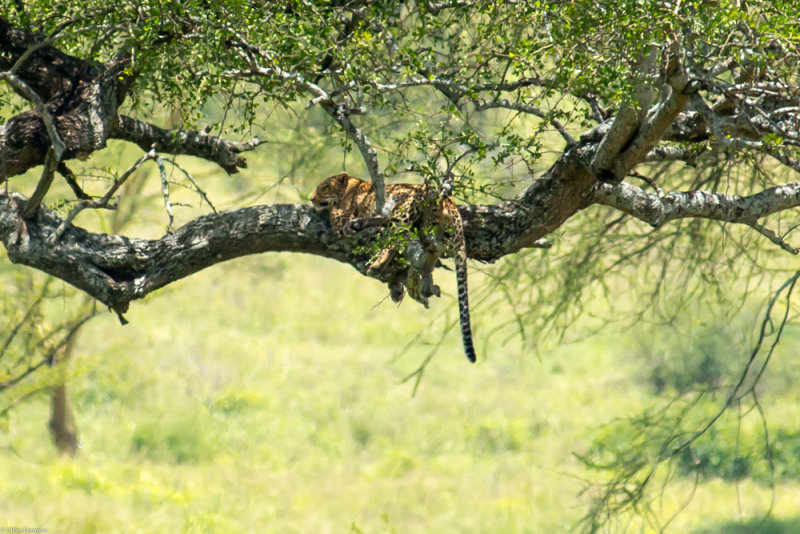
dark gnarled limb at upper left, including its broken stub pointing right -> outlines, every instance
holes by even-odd
[[[104,148],[108,139],[124,139],[144,150],[201,157],[228,173],[246,166],[239,154],[258,146],[258,139],[238,143],[190,130],[164,130],[118,115],[136,77],[126,72],[130,66],[127,53],[102,64],[65,54],[47,44],[44,36],[15,28],[0,17],[0,71],[12,73],[44,102],[65,145],[62,160],[85,159]],[[0,126],[0,183],[43,164],[50,146],[37,110],[9,119]]]

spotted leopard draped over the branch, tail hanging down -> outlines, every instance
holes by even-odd
[[[372,183],[340,172],[320,182],[310,200],[318,213],[327,214],[331,228],[340,238],[347,238],[368,228],[391,224],[406,229],[416,228],[419,241],[425,249],[425,259],[404,282],[409,295],[423,304],[427,304],[427,296],[439,296],[439,288],[432,285],[431,272],[439,264],[440,257],[451,256],[455,263],[464,354],[470,362],[475,363],[477,357],[469,309],[464,222],[458,206],[449,196],[449,190],[436,195],[427,185],[388,184],[383,213],[375,214],[375,190]],[[395,245],[380,250],[370,262],[367,274],[379,273],[396,258],[398,252]],[[393,300],[402,299],[403,283],[390,280],[389,288]]]

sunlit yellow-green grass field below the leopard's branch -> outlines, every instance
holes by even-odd
[[[45,398],[13,411],[0,434],[0,526],[572,530],[585,480],[599,476],[573,453],[652,401],[637,362],[619,339],[595,337],[540,358],[520,343],[479,343],[472,366],[452,330],[412,397],[402,379],[454,315],[452,284],[441,282],[451,297],[431,310],[398,308],[347,266],[265,255],[135,303],[125,327],[111,314],[94,320],[71,383],[79,456],[54,452]],[[480,308],[474,315],[480,339]],[[715,478],[693,492],[687,479],[664,493],[660,521],[685,505],[667,531],[798,531],[800,485],[781,481],[773,518],[760,522],[771,495]]]

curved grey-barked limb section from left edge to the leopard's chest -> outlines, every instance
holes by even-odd
[[[61,278],[119,312],[170,282],[246,254],[283,250],[347,260],[345,249],[310,206],[209,215],[155,241],[93,234],[70,225],[51,244],[48,237],[63,219],[41,209],[25,222],[25,201],[19,194],[0,195],[0,239],[9,259]]]

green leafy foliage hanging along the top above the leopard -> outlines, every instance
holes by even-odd
[[[795,65],[800,16],[793,2],[733,1],[19,5],[0,15],[54,35],[65,51],[95,61],[130,55],[127,106],[138,113],[171,109],[186,126],[244,133],[265,106],[307,100],[305,84],[315,83],[367,112],[363,127],[394,173],[448,170],[490,195],[508,167],[539,168],[552,121],[585,128],[596,113],[638,101],[636,84],[653,83],[644,63],[661,61],[675,32],[692,72],[735,58],[742,68],[774,64],[778,75]],[[211,101],[230,113],[205,115]]]

